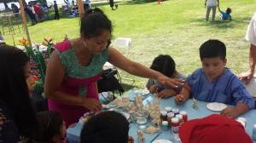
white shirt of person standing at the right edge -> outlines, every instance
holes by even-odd
[[[248,25],[246,39],[248,42],[256,46],[256,12]]]

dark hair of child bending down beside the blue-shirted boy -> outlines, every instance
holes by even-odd
[[[150,68],[154,71],[161,72],[166,77],[172,77],[176,70],[176,64],[170,55],[159,54],[154,58]]]

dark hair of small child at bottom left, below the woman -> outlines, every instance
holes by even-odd
[[[63,121],[59,112],[39,112],[38,118],[43,124],[44,135],[42,137],[42,140],[37,140],[37,143],[51,143],[55,135],[59,135],[61,138],[60,129],[62,128]]]

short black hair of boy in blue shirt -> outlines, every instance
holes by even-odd
[[[203,43],[199,49],[200,59],[220,57],[221,60],[226,59],[226,46],[219,40],[210,39]]]

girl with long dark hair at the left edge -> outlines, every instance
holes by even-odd
[[[43,129],[31,103],[34,87],[29,57],[22,50],[0,45],[0,142],[20,142],[21,136],[41,138]]]

